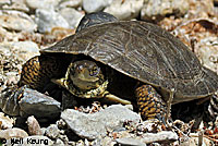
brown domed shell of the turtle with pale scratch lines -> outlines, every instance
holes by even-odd
[[[83,28],[41,53],[89,56],[162,93],[173,104],[203,98],[218,89],[218,75],[204,68],[179,39],[157,25],[120,21]],[[164,94],[164,98],[168,99]]]

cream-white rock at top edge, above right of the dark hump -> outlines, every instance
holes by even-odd
[[[138,16],[144,0],[113,0],[104,12],[114,15],[118,20],[131,20]]]

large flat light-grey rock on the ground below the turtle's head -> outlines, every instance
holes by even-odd
[[[121,105],[113,105],[92,114],[66,109],[61,113],[61,118],[73,132],[88,139],[105,136],[107,131],[122,127],[124,121],[140,122],[141,120],[138,114]]]

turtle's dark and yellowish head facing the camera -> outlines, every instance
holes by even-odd
[[[100,68],[89,60],[72,62],[69,69],[69,78],[81,89],[94,89],[104,83]]]

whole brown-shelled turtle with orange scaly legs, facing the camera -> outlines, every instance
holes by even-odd
[[[51,81],[78,98],[135,102],[144,120],[164,119],[170,95],[173,105],[217,98],[218,75],[181,40],[152,23],[108,20],[40,50],[23,65],[20,86],[41,92]]]

